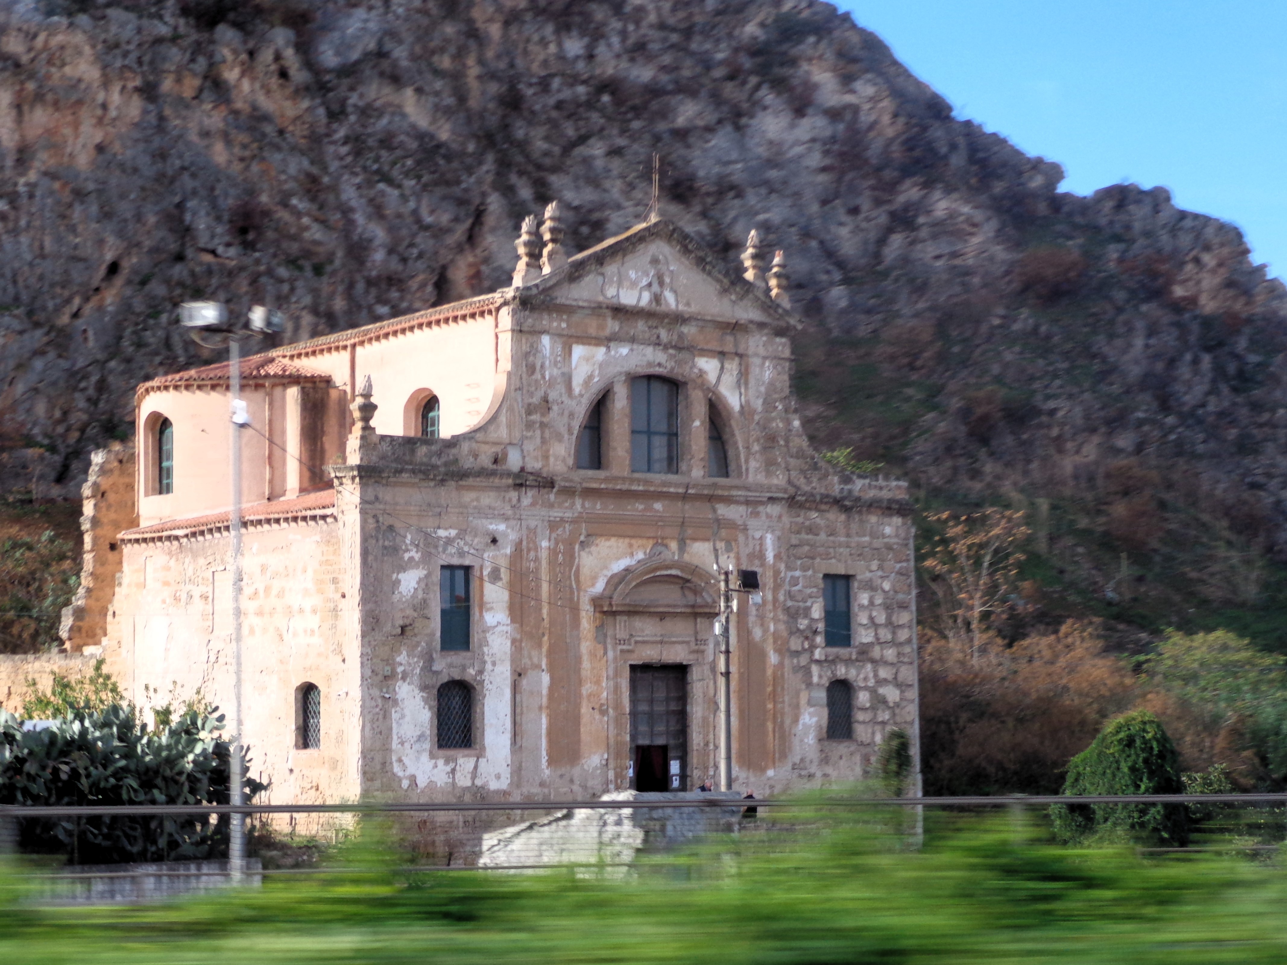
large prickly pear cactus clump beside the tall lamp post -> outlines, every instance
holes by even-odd
[[[0,804],[227,804],[224,718],[185,710],[149,728],[133,706],[72,708],[42,730],[0,710]],[[247,800],[264,790],[246,778]],[[193,861],[227,852],[227,818],[28,818],[19,847],[73,863]]]

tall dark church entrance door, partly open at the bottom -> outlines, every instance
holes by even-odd
[[[689,789],[689,668],[631,666],[631,787]]]

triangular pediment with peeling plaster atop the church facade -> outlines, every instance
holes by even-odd
[[[780,326],[794,317],[722,265],[689,234],[655,221],[582,252],[524,295]]]

